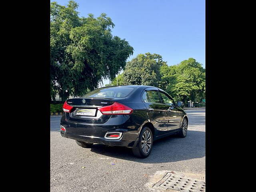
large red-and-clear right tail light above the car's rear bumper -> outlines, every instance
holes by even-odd
[[[114,102],[112,105],[109,106],[99,107],[98,110],[100,110],[100,112],[105,115],[123,115],[131,114],[133,112],[132,108],[118,102]]]

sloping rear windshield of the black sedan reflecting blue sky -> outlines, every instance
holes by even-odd
[[[113,88],[100,88],[96,89],[84,97],[126,97],[134,88],[128,87],[113,87]]]

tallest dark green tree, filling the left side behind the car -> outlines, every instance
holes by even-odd
[[[104,78],[113,80],[125,67],[133,48],[125,39],[112,36],[114,23],[102,13],[79,17],[78,4],[51,3],[50,10],[50,80],[51,97],[62,100],[81,96],[97,88]]]

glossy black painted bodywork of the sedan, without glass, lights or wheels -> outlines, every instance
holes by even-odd
[[[120,87],[120,86],[118,86]],[[90,143],[126,146],[135,148],[138,143],[140,130],[147,126],[152,130],[154,139],[159,139],[180,130],[183,118],[187,118],[186,112],[176,106],[165,104],[161,98],[160,103],[144,102],[142,94],[145,91],[154,90],[163,92],[164,90],[151,86],[125,86],[134,90],[125,98],[73,98],[68,99],[69,105],[74,106],[71,113],[63,113],[60,124],[66,128],[66,132],[61,131],[61,135],[66,138],[80,140]],[[114,88],[114,86],[112,86]],[[160,94],[159,94],[160,95]],[[170,95],[168,97],[171,98]],[[86,102],[83,103],[82,100]],[[114,102],[119,102],[133,109],[130,115],[103,115],[97,109],[101,106],[108,106]],[[76,108],[94,108],[95,116],[75,116]],[[120,140],[110,140],[104,138],[106,132],[122,132]]]

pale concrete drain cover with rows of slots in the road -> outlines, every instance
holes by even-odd
[[[177,190],[182,192],[205,192],[205,182],[203,180],[188,178],[180,173],[168,172],[162,180],[154,185],[159,190]]]

